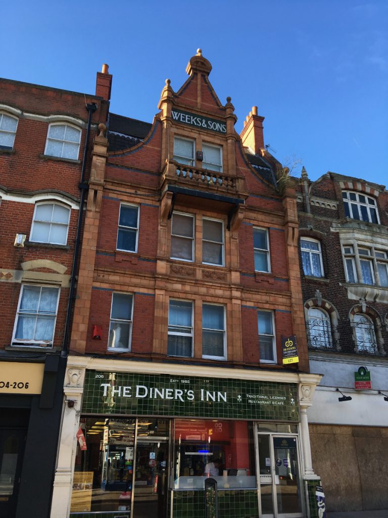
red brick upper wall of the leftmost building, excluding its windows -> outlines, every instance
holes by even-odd
[[[0,90],[0,113],[17,121],[13,146],[0,146],[0,292],[3,322],[0,348],[11,350],[21,285],[52,285],[61,287],[54,337],[48,349],[44,348],[53,352],[61,350],[63,345],[88,118],[85,102],[97,105],[89,146],[96,135],[97,124],[106,120],[108,104],[95,96],[10,80],[1,80]],[[52,123],[68,124],[81,130],[76,160],[44,154]],[[88,168],[86,165],[86,171]],[[36,204],[43,202],[57,203],[70,209],[66,243],[42,243],[31,238],[34,209]],[[26,236],[23,247],[14,246],[17,234]],[[20,347],[26,351],[36,348],[43,350],[42,343],[28,341]]]

